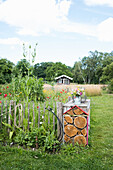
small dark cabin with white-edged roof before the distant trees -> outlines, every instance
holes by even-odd
[[[55,80],[57,80],[57,84],[70,84],[70,81],[73,80],[73,78],[66,76],[66,75],[61,75],[59,77],[56,77]]]

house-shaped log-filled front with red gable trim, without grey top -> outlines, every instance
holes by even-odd
[[[89,113],[77,105],[63,114],[64,142],[88,145]]]

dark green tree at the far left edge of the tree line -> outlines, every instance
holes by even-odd
[[[14,63],[7,59],[0,59],[0,84],[10,83]]]

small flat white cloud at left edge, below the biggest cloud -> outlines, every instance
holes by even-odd
[[[19,38],[7,38],[7,39],[0,39],[0,44],[4,45],[22,45],[24,42],[21,41]]]

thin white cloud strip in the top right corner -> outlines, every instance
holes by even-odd
[[[108,5],[113,7],[113,0],[84,0],[86,5],[95,6],[95,5]]]

